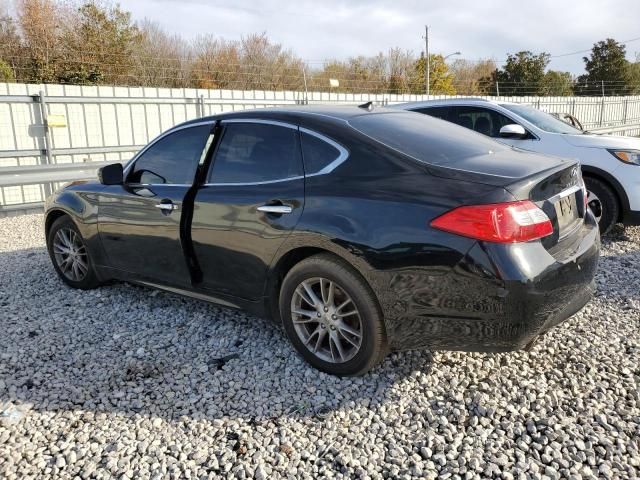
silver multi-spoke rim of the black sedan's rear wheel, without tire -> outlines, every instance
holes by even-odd
[[[360,312],[337,282],[317,277],[300,283],[291,299],[291,319],[304,346],[325,362],[347,362],[360,350]]]

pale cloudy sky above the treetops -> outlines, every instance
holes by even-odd
[[[562,55],[607,37],[640,37],[638,0],[120,0],[134,19],[148,18],[186,38],[210,33],[239,39],[267,32],[309,61],[375,55],[399,46],[418,54],[424,25],[431,51],[503,61],[519,50]],[[627,44],[627,57],[640,40]],[[582,56],[553,58],[550,68],[583,72]]]

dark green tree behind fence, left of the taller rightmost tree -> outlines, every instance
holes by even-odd
[[[491,93],[499,91],[500,95],[542,95],[549,58],[548,53],[536,55],[528,50],[509,54],[504,67],[496,69],[484,83]]]

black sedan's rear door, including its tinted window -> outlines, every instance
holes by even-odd
[[[200,288],[255,300],[304,207],[299,132],[264,120],[223,120],[221,126],[207,183],[194,201]]]

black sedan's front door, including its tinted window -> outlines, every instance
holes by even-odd
[[[112,268],[167,285],[190,284],[180,235],[183,201],[212,125],[190,125],[160,137],[127,168],[123,185],[100,193],[98,230]]]

